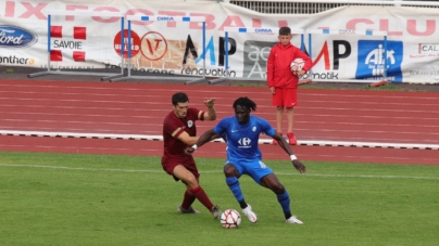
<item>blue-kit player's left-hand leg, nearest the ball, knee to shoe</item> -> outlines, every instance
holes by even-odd
[[[236,200],[238,200],[239,206],[242,208],[242,212],[249,218],[251,222],[256,222],[258,221],[258,216],[252,211],[252,208],[249,204],[246,203],[241,187],[239,185],[239,180],[238,178],[240,177],[240,173],[242,173],[242,170],[238,170],[238,168],[241,169],[239,165],[235,166],[231,163],[227,163],[224,166],[224,174],[226,176],[226,183],[227,186],[230,189],[231,193],[234,194]]]

